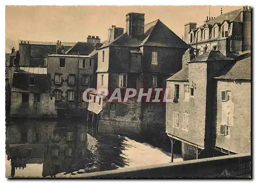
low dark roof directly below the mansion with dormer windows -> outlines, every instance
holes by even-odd
[[[234,60],[233,58],[226,57],[218,50],[211,50],[206,52],[198,57],[192,59],[189,62],[198,62],[198,61],[216,61],[216,60]]]

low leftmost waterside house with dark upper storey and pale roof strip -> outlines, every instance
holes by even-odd
[[[16,67],[11,88],[10,117],[56,117],[47,68]]]

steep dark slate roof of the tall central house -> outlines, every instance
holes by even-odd
[[[187,48],[187,44],[163,24],[159,19],[146,24],[144,35],[130,37],[124,33],[111,42],[106,42],[100,49],[109,46],[141,47],[150,45],[156,47]]]

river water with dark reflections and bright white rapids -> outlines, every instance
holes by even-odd
[[[7,125],[6,177],[76,177],[170,162],[148,142],[98,132],[84,120],[15,120]],[[175,154],[174,162],[182,161]]]

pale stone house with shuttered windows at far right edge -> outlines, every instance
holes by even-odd
[[[227,154],[251,152],[251,57],[213,77],[217,80],[215,148]]]

